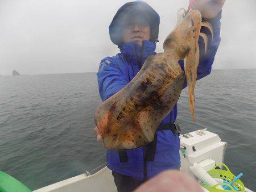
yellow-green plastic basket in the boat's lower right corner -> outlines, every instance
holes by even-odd
[[[221,168],[221,166],[223,166],[225,169],[219,169]],[[214,166],[214,168],[212,170],[209,170],[208,174],[212,177],[212,178],[220,178],[222,180],[231,182],[236,176],[234,176],[233,173],[230,172],[228,166],[226,166],[225,164],[217,164],[216,166]],[[231,190],[221,190],[221,189],[217,189],[217,186],[229,186]],[[244,192],[245,191],[245,186],[243,185],[242,181],[237,180],[233,183],[234,186],[237,187],[238,191]],[[237,192],[231,185],[229,185],[228,183],[218,183],[216,185],[213,186],[207,186],[204,183],[201,182],[201,186],[203,186],[205,189],[207,189],[210,192],[223,192],[223,191],[230,191],[230,192]]]

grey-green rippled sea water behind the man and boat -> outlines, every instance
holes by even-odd
[[[213,70],[196,84],[196,122],[187,89],[178,102],[182,132],[202,128],[228,143],[225,164],[256,189],[256,69]],[[106,161],[93,133],[100,105],[96,73],[0,77],[0,170],[30,189]]]

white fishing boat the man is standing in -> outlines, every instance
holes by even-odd
[[[224,162],[224,155],[227,143],[221,141],[220,137],[213,132],[204,130],[197,130],[189,133],[180,135],[180,158],[181,158],[181,170],[191,174],[195,177],[196,173],[191,169],[192,165],[198,165],[205,173],[210,173],[216,165]],[[227,168],[228,169],[228,168]],[[231,168],[232,169],[232,168]],[[218,168],[222,170],[222,168]],[[217,171],[218,171],[217,170]],[[7,175],[7,174],[6,174]],[[209,175],[208,175],[209,176]],[[7,176],[8,177],[8,176]],[[16,181],[13,177],[9,176],[9,188],[6,186],[4,192],[28,192],[30,191],[22,183]],[[224,176],[225,177],[225,176]],[[231,177],[231,176],[230,176]],[[235,177],[235,176],[234,176]],[[195,178],[200,178],[199,176]],[[233,180],[233,178],[230,178]],[[201,179],[202,180],[202,179]],[[242,179],[241,179],[242,180]],[[238,180],[237,180],[238,181]],[[238,191],[253,192],[240,183],[237,183]],[[239,180],[240,181],[240,180]],[[199,181],[202,185],[202,182]],[[241,182],[241,181],[240,181]],[[0,191],[1,191],[1,174],[0,174]],[[16,188],[19,190],[13,190],[11,187],[24,187]],[[220,185],[220,184],[219,184]],[[202,186],[204,191],[209,191]],[[86,171],[84,174],[68,178],[67,180],[53,183],[51,185],[36,189],[33,192],[115,192],[117,188],[115,187],[114,178],[112,176],[111,170],[109,170],[105,164],[99,166],[92,171]],[[229,189],[222,189],[222,191],[236,191]],[[2,192],[2,191],[1,191]]]

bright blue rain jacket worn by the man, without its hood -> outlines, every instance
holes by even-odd
[[[122,8],[122,7],[121,7]],[[207,76],[212,69],[214,56],[220,44],[220,18],[221,12],[214,19],[207,20],[213,26],[214,38],[208,45],[207,54],[204,54],[203,39],[199,39],[200,61],[197,68],[197,80]],[[208,35],[207,29],[202,28],[201,32]],[[123,87],[125,87],[141,69],[147,56],[155,55],[155,42],[143,41],[143,46],[135,42],[119,45],[120,52],[113,57],[105,57],[101,60],[98,70],[98,88],[102,101],[105,101]],[[139,57],[138,57],[139,56]],[[141,60],[138,60],[141,58]],[[183,61],[179,61],[184,70]],[[184,87],[187,83],[184,83]],[[167,115],[161,124],[174,123],[177,116],[177,105],[172,109],[171,115]],[[157,145],[154,161],[145,161],[144,155],[148,145],[137,149],[127,150],[127,162],[120,162],[119,153],[116,150],[107,151],[107,166],[114,172],[134,177],[137,180],[149,179],[159,172],[167,169],[180,168],[180,139],[171,130],[156,132]]]

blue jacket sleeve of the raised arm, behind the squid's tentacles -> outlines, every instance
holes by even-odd
[[[207,28],[201,28],[200,32],[203,32],[208,36],[208,48],[206,54],[204,53],[204,41],[203,38],[200,36],[199,37],[199,49],[200,49],[200,57],[199,57],[199,65],[197,66],[197,78],[196,80],[200,80],[201,78],[207,76],[210,74],[212,70],[212,64],[214,61],[214,57],[216,55],[218,45],[220,44],[221,38],[220,38],[220,23],[221,19],[221,11],[218,13],[216,18],[213,19],[202,19],[203,22],[209,22],[212,24],[213,27],[213,40],[210,35],[210,32],[208,31]],[[179,60],[179,64],[181,66],[181,69],[184,70],[184,61]],[[185,80],[183,89],[187,87],[187,81]]]

